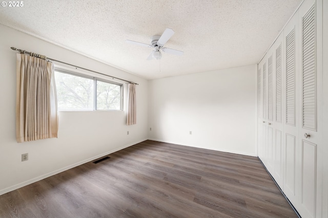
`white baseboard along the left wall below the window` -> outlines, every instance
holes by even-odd
[[[18,189],[18,188],[22,188],[22,187],[24,187],[24,186],[26,186],[26,185],[29,185],[29,184],[32,184],[32,183],[34,183],[34,182],[37,182],[37,181],[40,181],[40,180],[46,179],[46,178],[48,178],[48,177],[51,177],[51,176],[53,176],[53,175],[56,175],[56,174],[58,174],[58,173],[60,173],[60,172],[63,172],[63,171],[65,171],[65,170],[68,170],[68,169],[74,168],[74,167],[76,167],[76,166],[79,166],[79,165],[82,165],[82,164],[88,163],[88,162],[93,161],[93,160],[95,160],[95,159],[98,159],[98,158],[101,158],[101,157],[103,157],[103,156],[106,156],[106,155],[112,154],[113,152],[116,152],[116,151],[118,151],[118,150],[121,150],[121,149],[124,149],[124,148],[130,147],[130,146],[132,146],[132,145],[138,144],[138,143],[143,142],[143,141],[146,141],[146,140],[147,140],[147,138],[146,138],[146,139],[142,139],[142,140],[138,140],[138,141],[133,142],[133,143],[131,143],[131,144],[124,145],[124,146],[121,146],[121,147],[119,147],[119,148],[116,148],[116,149],[113,149],[113,150],[110,150],[110,151],[104,152],[103,154],[100,154],[100,155],[94,156],[94,157],[92,157],[92,158],[88,158],[88,159],[86,159],[86,160],[84,160],[84,161],[77,162],[77,163],[75,163],[75,164],[72,164],[72,165],[69,165],[69,166],[66,166],[66,167],[63,167],[63,168],[60,168],[60,169],[54,170],[54,171],[49,172],[49,173],[46,173],[46,174],[44,174],[44,175],[42,175],[42,176],[39,176],[39,177],[36,177],[36,178],[30,179],[30,180],[28,180],[28,181],[25,181],[25,182],[22,182],[22,183],[19,183],[19,184],[16,184],[16,185],[10,186],[10,187],[8,187],[8,188],[4,188],[4,189],[0,190],[0,195],[5,194],[5,193],[10,192],[10,191],[13,191],[13,190],[16,190],[16,189]]]

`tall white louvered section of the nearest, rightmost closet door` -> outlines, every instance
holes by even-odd
[[[302,125],[316,130],[315,8],[302,20]]]

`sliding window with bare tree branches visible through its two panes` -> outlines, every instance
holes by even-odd
[[[122,84],[55,70],[59,111],[122,110]]]

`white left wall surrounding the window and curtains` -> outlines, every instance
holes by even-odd
[[[0,36],[0,194],[147,139],[147,80],[3,25]],[[60,112],[57,139],[17,143],[16,52],[10,47],[139,83],[137,125],[125,124],[126,112]],[[24,153],[29,160],[21,162]]]

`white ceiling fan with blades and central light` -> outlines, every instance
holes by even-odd
[[[182,51],[163,47],[164,44],[173,36],[173,34],[174,34],[174,31],[172,29],[166,28],[166,30],[163,32],[163,34],[161,36],[154,35],[151,37],[150,45],[148,45],[146,43],[138,42],[138,41],[132,41],[132,40],[126,40],[126,42],[134,44],[134,45],[154,48],[154,50],[148,56],[147,60],[152,60],[152,59],[159,60],[162,56],[161,51],[163,51],[165,53],[169,53],[169,54],[174,54],[174,55],[183,55]]]

